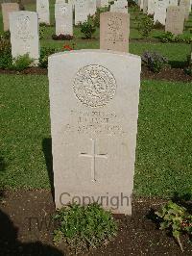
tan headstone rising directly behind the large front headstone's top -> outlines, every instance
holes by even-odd
[[[128,52],[129,35],[129,13],[101,13],[100,49]]]

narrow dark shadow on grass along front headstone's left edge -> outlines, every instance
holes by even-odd
[[[52,157],[52,140],[51,140],[51,138],[43,139],[43,141],[42,141],[42,151],[43,151],[46,166],[47,166],[47,171],[48,171],[48,175],[49,175],[49,182],[50,182],[50,186],[51,186],[52,196],[53,196],[53,198],[55,198],[53,157]]]

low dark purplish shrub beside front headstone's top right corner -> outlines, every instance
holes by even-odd
[[[168,60],[156,52],[145,52],[142,55],[142,64],[155,73],[160,72],[168,64]]]

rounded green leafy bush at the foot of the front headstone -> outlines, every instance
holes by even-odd
[[[96,247],[110,241],[117,233],[117,224],[110,212],[98,204],[73,204],[61,208],[55,215],[59,223],[54,232],[54,243],[62,241],[77,250]]]

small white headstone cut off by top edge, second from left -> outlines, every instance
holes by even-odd
[[[36,13],[38,22],[50,24],[49,0],[36,0]]]

